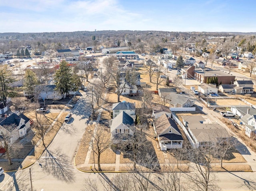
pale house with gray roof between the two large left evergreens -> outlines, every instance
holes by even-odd
[[[66,94],[62,95],[59,91],[55,90],[56,85],[42,85],[40,86],[40,93],[38,99],[62,99]]]

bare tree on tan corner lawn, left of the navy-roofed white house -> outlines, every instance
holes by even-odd
[[[98,156],[98,170],[102,171],[100,167],[100,155],[110,148],[110,145],[112,144],[108,128],[101,125],[96,126],[95,128],[93,128],[93,126],[87,126],[85,133],[89,138],[92,138],[93,152]]]

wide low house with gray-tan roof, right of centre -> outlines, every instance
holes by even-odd
[[[169,94],[165,98],[168,100],[170,107],[192,107],[195,104],[190,98],[181,94]]]

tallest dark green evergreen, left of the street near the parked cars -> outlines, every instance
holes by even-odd
[[[61,94],[68,94],[72,90],[72,69],[68,66],[68,62],[61,61],[60,68],[54,75],[56,90],[60,91]]]

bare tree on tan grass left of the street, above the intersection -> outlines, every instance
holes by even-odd
[[[36,121],[34,121],[34,125],[32,127],[35,136],[38,137],[43,142],[43,146],[45,147],[44,138],[50,127],[50,120],[46,118],[43,114],[36,113]]]

